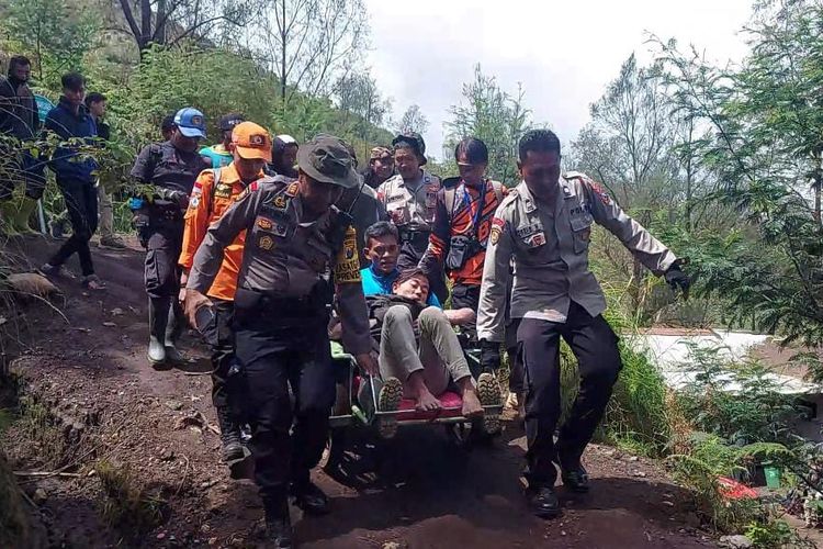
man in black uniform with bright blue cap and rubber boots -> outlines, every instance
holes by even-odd
[[[183,212],[189,205],[194,180],[211,167],[198,153],[205,137],[205,119],[196,109],[181,109],[174,115],[171,138],[140,150],[132,177],[143,186],[132,201],[135,225],[146,248],[146,293],[148,293],[148,361],[154,367],[179,363],[177,350],[184,321],[178,302],[180,271],[178,258],[183,238]]]

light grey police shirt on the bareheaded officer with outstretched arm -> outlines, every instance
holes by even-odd
[[[585,175],[570,172],[561,178],[553,210],[535,202],[523,181],[492,221],[477,312],[478,338],[503,340],[509,288],[512,318],[563,323],[572,301],[591,316],[606,310],[600,284],[588,268],[593,222],[617,236],[655,274],[676,260]]]

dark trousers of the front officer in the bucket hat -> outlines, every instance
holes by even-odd
[[[255,480],[264,502],[277,501],[290,481],[308,481],[326,447],[335,400],[328,313],[297,299],[247,305],[249,293],[237,291],[236,352],[248,392]]]

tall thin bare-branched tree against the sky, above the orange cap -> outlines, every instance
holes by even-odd
[[[362,0],[264,0],[247,47],[278,78],[288,104],[290,87],[328,93],[329,82],[356,65],[368,35]]]

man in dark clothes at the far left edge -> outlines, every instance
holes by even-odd
[[[31,61],[15,55],[9,61],[9,74],[0,77],[0,220],[9,233],[34,233],[29,217],[46,186],[45,163],[34,158],[25,142],[40,132],[40,116],[34,94],[29,88]],[[25,182],[25,197],[20,204],[10,203],[16,181]]]

